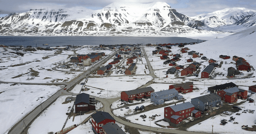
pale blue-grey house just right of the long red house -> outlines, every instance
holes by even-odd
[[[183,99],[183,96],[178,94],[179,92],[176,89],[163,90],[159,92],[151,93],[151,102],[154,102],[157,105],[164,104],[164,101],[171,101],[173,99],[180,100]]]

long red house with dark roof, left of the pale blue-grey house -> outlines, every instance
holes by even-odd
[[[140,101],[142,98],[149,99],[150,94],[154,91],[152,87],[123,91],[121,92],[121,101],[133,102],[133,100]]]

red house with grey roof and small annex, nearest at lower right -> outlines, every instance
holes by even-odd
[[[194,105],[190,102],[180,103],[164,108],[164,120],[169,122],[172,126],[177,127],[185,118],[192,116],[191,112],[194,110]]]

